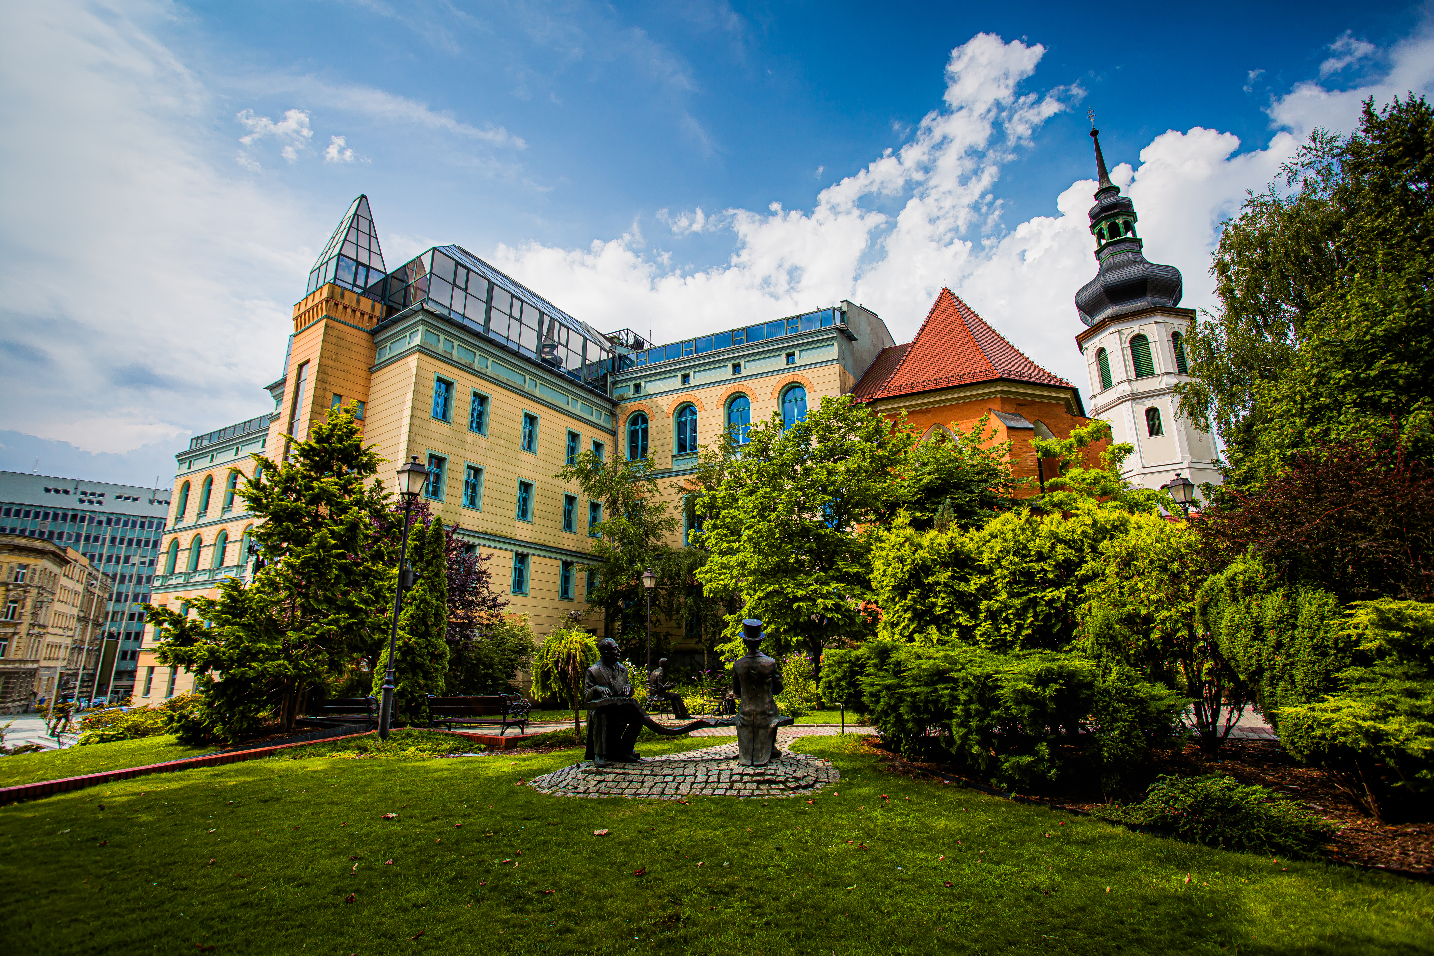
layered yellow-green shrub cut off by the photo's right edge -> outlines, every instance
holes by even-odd
[[[1434,603],[1359,602],[1342,623],[1361,665],[1324,699],[1281,708],[1281,740],[1381,820],[1417,814],[1434,791]]]

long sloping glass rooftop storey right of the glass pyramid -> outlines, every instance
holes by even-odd
[[[384,302],[390,314],[422,304],[509,351],[609,394],[614,351],[607,335],[462,247],[435,247],[360,291]]]

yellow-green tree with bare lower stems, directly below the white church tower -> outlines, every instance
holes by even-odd
[[[1249,692],[1219,642],[1197,626],[1203,576],[1195,532],[1184,522],[1139,515],[1100,545],[1096,563],[1101,572],[1086,588],[1074,646],[1133,666],[1189,699],[1200,747],[1215,752]]]

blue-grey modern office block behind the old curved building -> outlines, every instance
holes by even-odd
[[[73,549],[110,582],[100,612],[100,694],[126,694],[135,684],[145,631],[136,605],[149,601],[168,510],[169,489],[0,472],[0,533]],[[92,684],[86,677],[86,694]]]

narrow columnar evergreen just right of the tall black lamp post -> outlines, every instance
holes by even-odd
[[[445,560],[443,522],[427,527],[416,523],[409,539],[409,562],[419,572],[419,582],[403,596],[394,656],[393,717],[406,724],[427,722],[427,697],[442,697],[446,687],[447,645],[447,563]],[[373,694],[383,692],[389,668],[384,645],[373,671]]]

